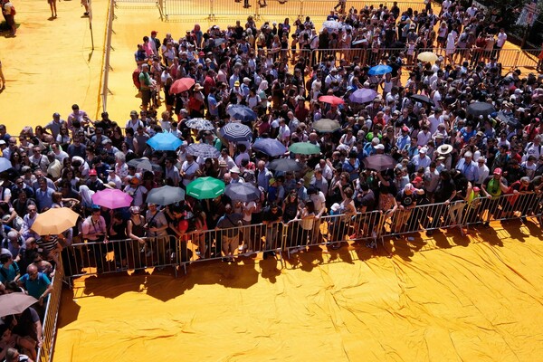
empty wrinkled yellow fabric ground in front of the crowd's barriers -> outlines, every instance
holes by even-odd
[[[395,241],[390,259],[356,246],[177,279],[81,278],[62,298],[55,359],[541,360],[541,230],[508,230]]]

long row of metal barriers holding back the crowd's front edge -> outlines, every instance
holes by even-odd
[[[183,268],[193,262],[231,261],[240,256],[281,252],[288,257],[310,246],[367,242],[376,248],[386,237],[408,233],[459,228],[464,234],[474,224],[536,217],[541,223],[543,193],[519,193],[495,198],[478,197],[471,202],[416,205],[394,213],[372,211],[306,218],[283,224],[250,224],[239,227],[196,230],[180,238],[172,236],[74,243],[64,262],[68,280],[90,274],[139,271],[148,268]],[[62,274],[61,274],[62,275]]]

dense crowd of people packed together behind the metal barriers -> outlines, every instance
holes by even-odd
[[[178,41],[171,34],[159,40],[151,32],[135,53],[141,110],[130,111],[127,121],[113,121],[107,112],[90,119],[74,104],[65,119],[55,112],[45,125],[14,130],[18,134],[0,125],[0,150],[10,163],[0,185],[0,293],[25,291],[38,300],[23,314],[0,320],[0,358],[18,360],[17,349],[35,358],[54,266],[60,258],[74,257],[66,252],[71,244],[131,240],[127,248],[145,262],[133,265],[137,268],[148,265],[147,258],[162,267],[178,252],[184,262],[195,258],[177,249],[178,240],[195,244],[200,259],[234,262],[238,253],[266,250],[264,258],[271,256],[280,224],[299,226],[289,238],[291,252],[305,251],[315,239],[338,249],[347,236],[357,239],[362,232],[348,227],[357,213],[382,212],[395,220],[396,233],[405,217],[394,215],[415,205],[452,205],[481,196],[489,209],[500,195],[540,191],[543,77],[519,70],[502,74],[500,49],[507,35],[496,26],[498,14],[484,15],[449,0],[434,14],[427,3],[420,14],[400,12],[396,5],[332,11],[328,21],[339,26],[320,33],[309,17],[260,27],[249,17],[244,26],[238,21],[206,32],[195,25]],[[350,53],[358,45],[367,56]],[[446,51],[434,62],[414,56],[415,50],[436,46]],[[398,47],[398,52],[382,51]],[[315,49],[345,51],[315,57],[304,52]],[[370,69],[378,64],[390,71],[373,75]],[[170,92],[184,78],[195,85]],[[359,101],[353,97],[359,90],[373,90],[375,96]],[[322,101],[322,96],[339,101]],[[473,113],[473,102],[493,110]],[[166,107],[158,113],[162,103]],[[230,116],[233,105],[254,112],[252,119],[243,119],[252,130],[243,141],[229,141],[220,132],[239,122]],[[213,128],[187,126],[198,118]],[[322,131],[315,127],[319,122],[338,127]],[[175,151],[149,147],[148,140],[159,133],[175,135],[181,146]],[[319,150],[311,155],[286,150],[272,157],[253,148],[266,138],[285,148],[303,142]],[[195,143],[216,148],[220,156],[195,157],[187,151]],[[390,156],[395,166],[366,168],[365,159],[374,155]],[[298,167],[271,169],[274,158],[291,159]],[[130,162],[142,159],[151,170]],[[260,197],[241,202],[187,194],[165,207],[147,202],[154,188],[186,188],[202,176],[225,185],[250,183]],[[131,205],[115,210],[95,205],[91,196],[106,188],[129,194]],[[79,213],[77,225],[58,235],[35,233],[37,214],[58,207]],[[335,229],[329,225],[331,232],[325,233],[318,225],[328,214],[340,216]],[[433,228],[438,219],[433,217]],[[262,227],[262,237],[251,243],[250,233],[224,233],[214,240],[202,233],[251,225]],[[153,248],[147,238],[166,242]],[[105,268],[104,250],[115,253],[119,270],[129,267],[119,248],[89,248],[97,271]]]

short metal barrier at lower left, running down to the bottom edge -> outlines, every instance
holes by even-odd
[[[42,347],[38,349],[37,361],[51,362],[52,348],[54,347],[54,339],[56,337],[56,326],[59,317],[59,309],[61,306],[62,296],[62,281],[64,279],[64,268],[62,259],[59,258],[58,264],[55,266],[54,276],[52,277],[52,292],[47,300],[45,308],[45,317],[42,324]]]

